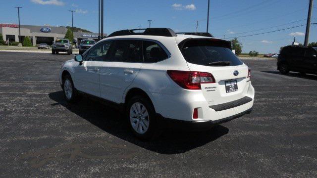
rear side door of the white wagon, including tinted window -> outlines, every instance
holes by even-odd
[[[101,97],[120,103],[143,64],[142,40],[120,40],[110,49],[100,76]]]

